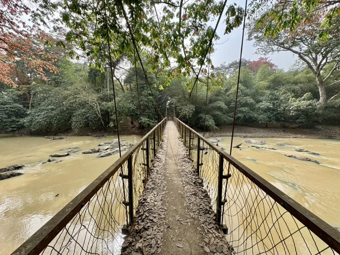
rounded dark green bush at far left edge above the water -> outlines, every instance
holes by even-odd
[[[17,131],[23,127],[26,109],[12,91],[0,92],[0,132]]]

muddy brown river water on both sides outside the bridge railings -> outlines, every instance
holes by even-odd
[[[114,136],[97,139],[88,136],[48,140],[33,136],[0,136],[0,168],[25,164],[24,175],[0,181],[0,254],[10,254],[39,227],[47,222],[74,196],[118,159],[118,155],[97,158],[97,154],[82,151],[97,147]],[[219,145],[229,148],[230,137],[221,137]],[[136,143],[140,136],[123,136]],[[247,138],[248,139],[248,138]],[[259,140],[258,138],[254,138]],[[340,227],[340,141],[303,138],[262,138],[265,147],[276,151],[248,148],[243,138],[234,138],[234,144],[243,142],[242,150],[233,149],[233,156],[280,188],[293,199],[327,221]],[[278,144],[284,144],[279,146]],[[81,151],[59,163],[46,161],[51,153],[67,147]],[[295,152],[303,148],[320,156]],[[229,151],[229,149],[226,149]],[[321,164],[304,162],[284,156],[289,153],[307,156]],[[58,161],[58,160],[57,160]],[[57,197],[56,195],[59,194]]]

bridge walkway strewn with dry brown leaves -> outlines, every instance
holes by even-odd
[[[192,161],[168,121],[122,254],[231,254]]]

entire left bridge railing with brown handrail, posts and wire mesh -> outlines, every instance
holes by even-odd
[[[157,124],[13,255],[120,254],[122,229],[133,223],[166,122]]]

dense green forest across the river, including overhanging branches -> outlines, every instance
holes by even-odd
[[[182,9],[183,1],[174,6],[169,1],[163,3],[157,22],[147,22],[143,15],[153,9],[146,1],[138,6],[122,1],[119,6],[72,1],[53,20],[54,31],[46,34],[22,17],[31,15],[34,22],[47,24],[48,14],[64,1],[59,5],[37,1],[34,9],[20,0],[0,0],[4,6],[0,23],[6,25],[0,29],[0,132],[84,133],[115,130],[117,123],[124,130],[148,130],[166,115],[180,117],[195,128],[203,129],[205,122],[205,129],[212,130],[233,121],[238,74],[239,125],[339,124],[339,6],[334,3],[323,9],[318,1],[309,6],[294,2],[285,13],[282,2],[253,3],[247,29],[258,52],[291,51],[299,57],[288,71],[277,68],[268,57],[213,66],[208,53],[214,51],[212,41],[217,35],[199,11],[218,17],[224,8],[220,2],[196,1]],[[84,11],[89,6],[93,13]],[[118,12],[123,6],[133,9],[135,16]],[[103,7],[116,10],[128,32],[120,31],[119,18],[109,19],[108,27]],[[294,10],[303,12],[308,21]],[[284,18],[277,19],[278,13]],[[114,14],[109,11],[109,15]],[[224,15],[228,34],[241,25],[244,10],[230,5]],[[193,24],[201,30],[195,32]],[[168,38],[156,29],[179,34]],[[107,36],[112,42],[111,59]],[[184,40],[190,36],[189,51]],[[162,47],[161,42],[170,41],[169,47]]]

